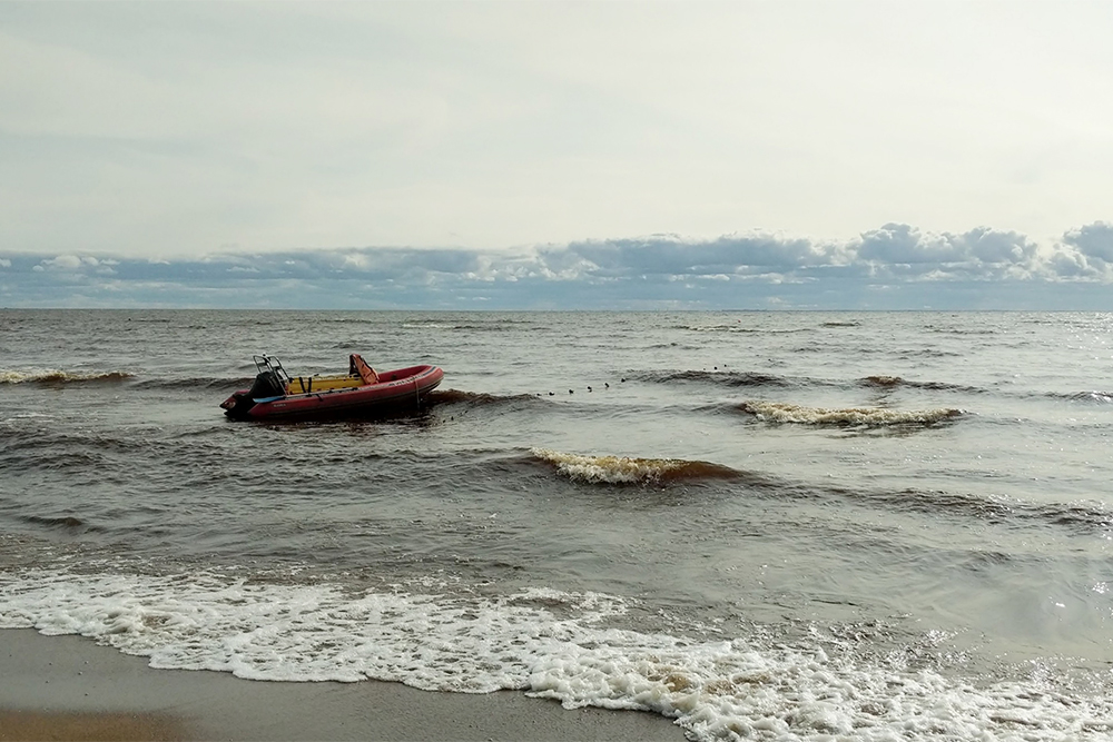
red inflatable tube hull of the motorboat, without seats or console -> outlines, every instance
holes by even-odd
[[[437,366],[411,366],[378,374],[378,382],[356,387],[253,398],[237,392],[220,405],[233,419],[328,419],[376,417],[421,408],[425,395],[444,378]]]

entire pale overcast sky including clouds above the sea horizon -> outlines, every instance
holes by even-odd
[[[0,0],[0,307],[1113,310],[1110,29]]]

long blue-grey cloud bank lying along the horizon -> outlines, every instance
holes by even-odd
[[[0,306],[1113,309],[1113,226],[1041,247],[889,222],[844,240],[775,234],[579,240],[515,253],[346,247],[150,260],[6,254]]]

